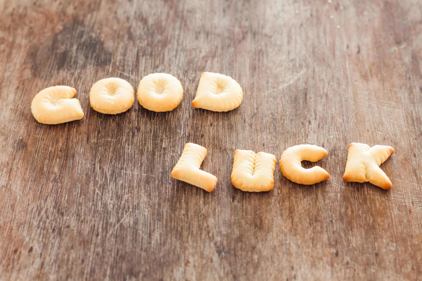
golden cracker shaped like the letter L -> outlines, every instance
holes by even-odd
[[[216,176],[199,169],[206,155],[207,150],[205,147],[188,142],[179,161],[174,166],[173,171],[171,171],[171,177],[200,187],[208,192],[213,191],[217,185]]]

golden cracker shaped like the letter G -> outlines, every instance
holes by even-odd
[[[82,119],[84,112],[78,99],[73,99],[75,95],[76,90],[69,86],[45,88],[32,99],[32,115],[43,124],[59,124]]]

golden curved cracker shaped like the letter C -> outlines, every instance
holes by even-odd
[[[330,175],[319,166],[310,169],[302,167],[303,160],[317,162],[327,156],[327,150],[317,145],[295,145],[284,150],[280,158],[280,169],[284,177],[301,185],[322,182]]]

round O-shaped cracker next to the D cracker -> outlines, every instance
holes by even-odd
[[[138,86],[138,102],[147,110],[156,112],[175,109],[183,98],[179,79],[167,73],[151,73]]]

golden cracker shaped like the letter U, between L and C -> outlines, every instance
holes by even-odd
[[[243,191],[272,190],[276,162],[276,156],[270,153],[235,150],[233,170],[230,176],[232,184]]]

